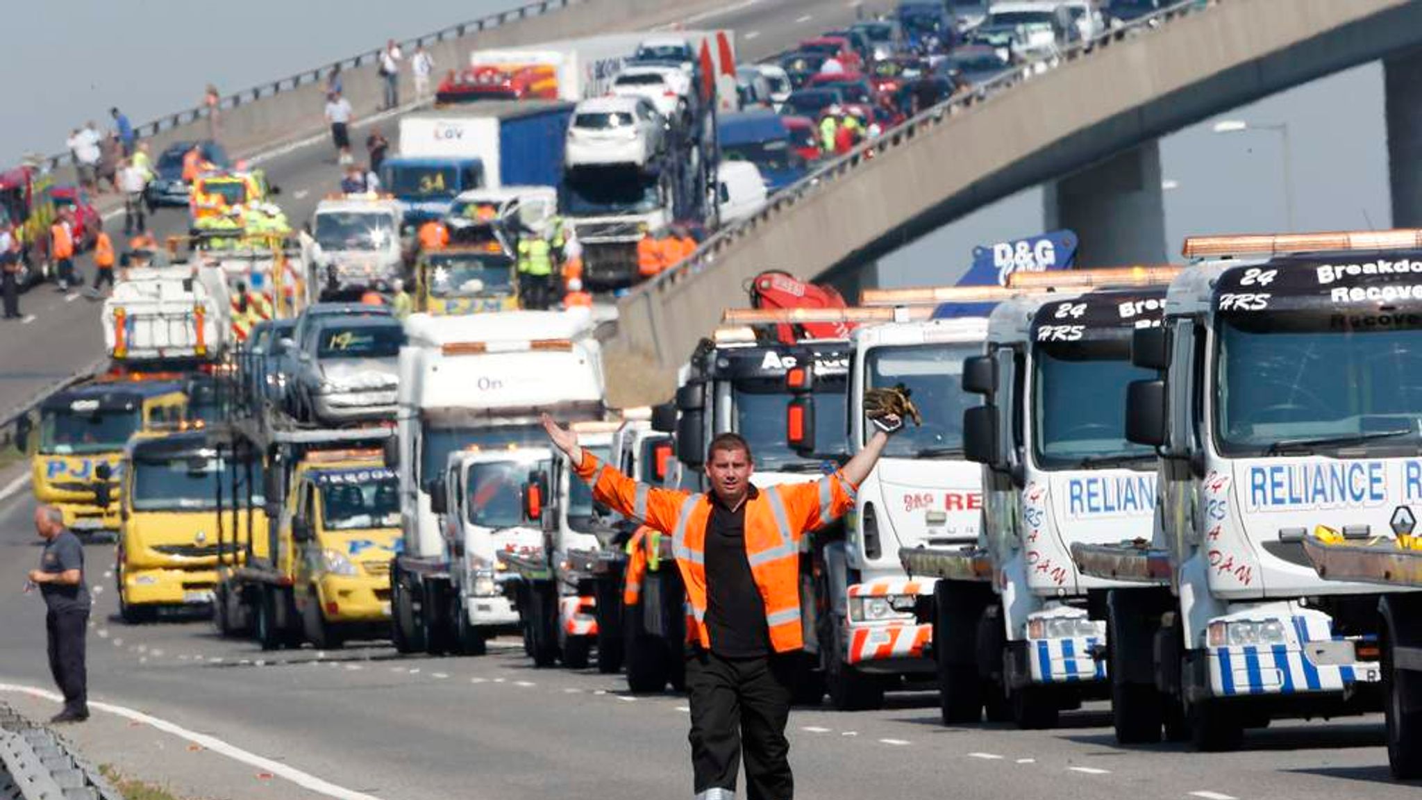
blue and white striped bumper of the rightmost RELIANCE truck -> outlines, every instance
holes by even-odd
[[[1315,665],[1304,655],[1304,643],[1342,641],[1334,636],[1328,618],[1294,616],[1290,642],[1210,648],[1210,689],[1217,696],[1300,695],[1342,692],[1352,683],[1379,680],[1376,662]]]

